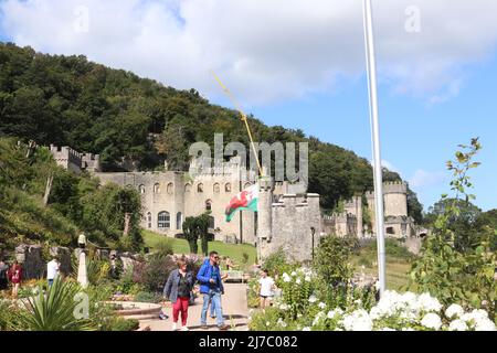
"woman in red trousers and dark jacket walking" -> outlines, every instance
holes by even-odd
[[[188,306],[193,289],[193,274],[188,270],[184,259],[178,260],[175,269],[163,287],[163,296],[172,303],[172,331],[178,330],[179,314],[181,313],[181,331],[189,331],[187,327]]]

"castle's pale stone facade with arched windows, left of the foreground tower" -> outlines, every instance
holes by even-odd
[[[95,173],[103,184],[116,183],[135,188],[141,195],[142,220],[140,226],[169,237],[182,234],[182,223],[189,216],[199,216],[208,211],[208,204],[213,217],[210,232],[216,239],[226,237],[241,239],[243,243],[255,244],[255,215],[253,212],[237,212],[232,222],[225,222],[224,210],[231,199],[241,188],[251,185],[240,183],[239,173],[199,174],[190,179],[186,172],[126,172]],[[159,227],[159,214],[166,212],[169,223]],[[240,229],[242,217],[243,229]],[[214,232],[218,231],[218,232]],[[242,234],[241,234],[242,233]]]

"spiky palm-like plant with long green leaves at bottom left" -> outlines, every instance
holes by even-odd
[[[93,322],[78,319],[76,309],[80,303],[75,296],[81,292],[77,282],[55,279],[46,291],[40,288],[34,298],[23,302],[24,309],[19,313],[18,330],[27,331],[94,331]],[[87,303],[89,304],[89,302]]]

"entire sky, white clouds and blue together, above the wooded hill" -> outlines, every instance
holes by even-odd
[[[231,107],[214,69],[264,122],[370,159],[360,2],[0,0],[0,39],[84,54]],[[385,165],[426,208],[450,189],[445,162],[457,145],[480,137],[476,204],[496,208],[497,2],[377,0],[373,9]],[[408,28],[413,19],[419,31]]]

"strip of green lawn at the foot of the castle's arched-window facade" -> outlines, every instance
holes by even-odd
[[[168,238],[163,235],[149,231],[141,231],[141,235],[144,236],[145,246],[148,246],[150,249],[154,249],[160,242],[167,240],[171,243],[172,252],[175,254],[190,254],[190,247],[188,246],[188,242],[186,239]],[[200,250],[201,247],[199,242],[199,252]],[[239,266],[236,269],[241,270],[255,264],[257,258],[255,246],[250,244],[225,244],[222,242],[210,242],[209,252],[212,250],[218,252],[221,257],[230,256],[234,264]],[[243,263],[244,253],[248,255],[248,260],[246,264]]]

